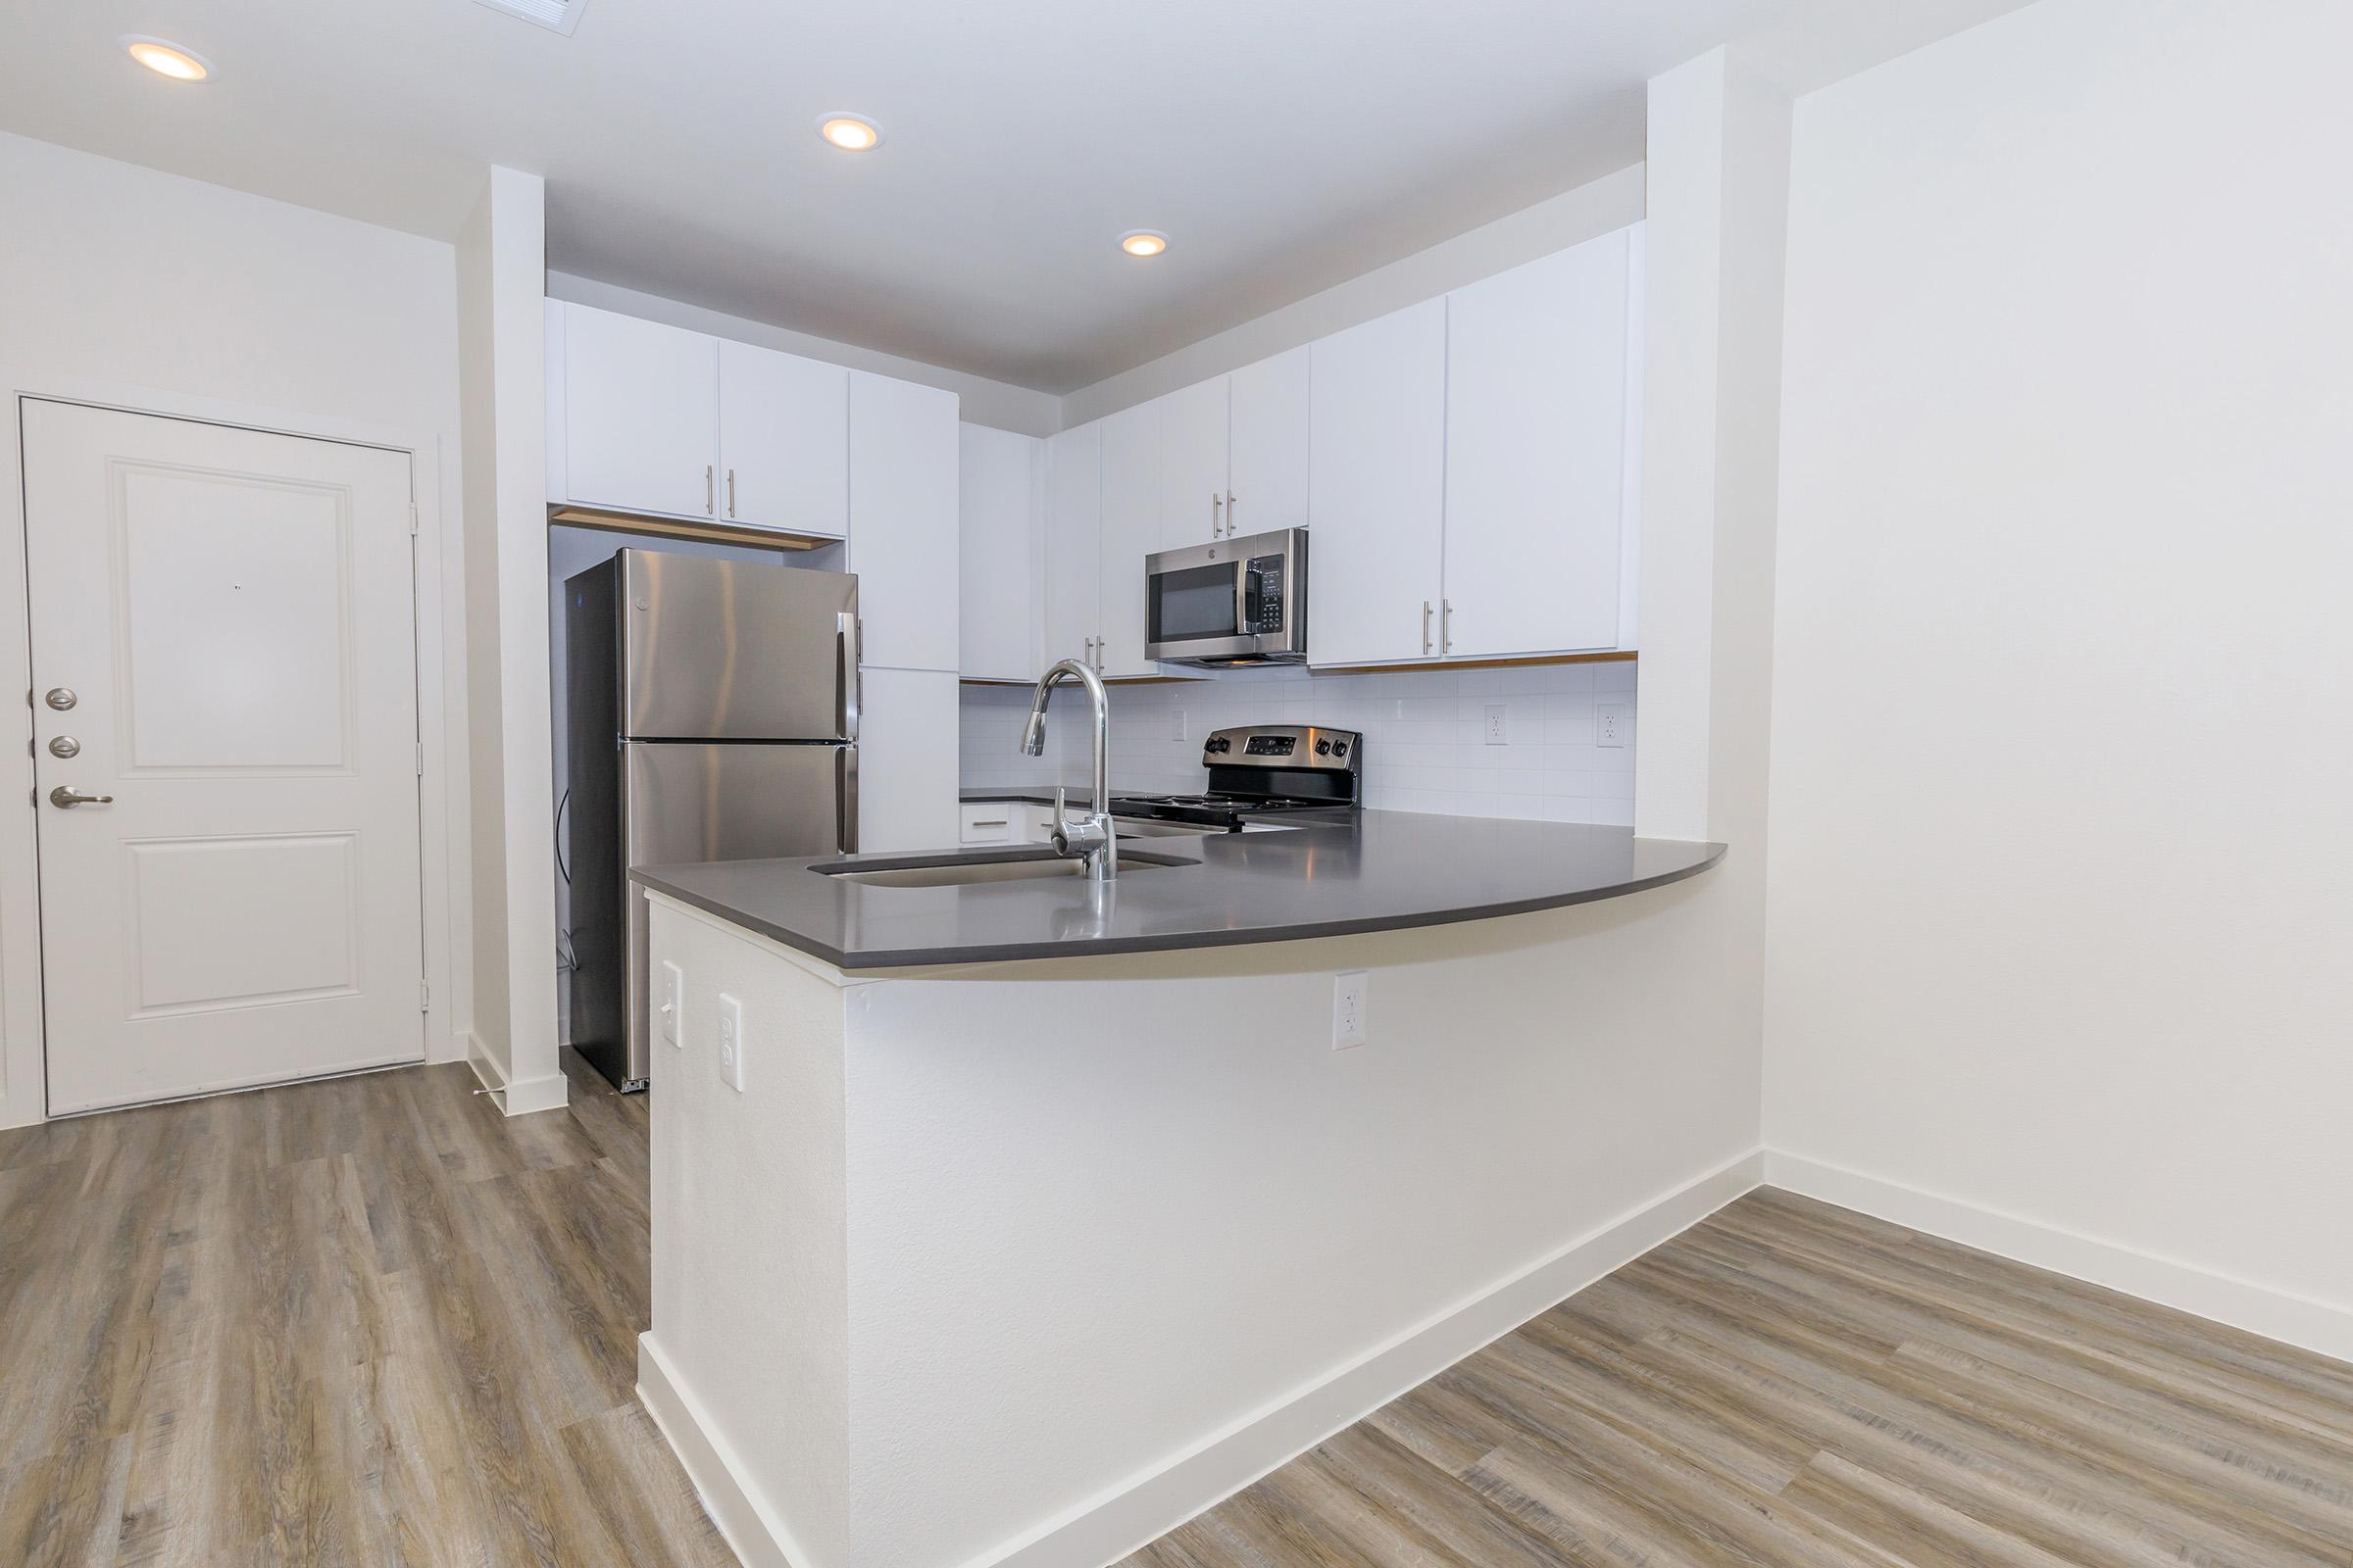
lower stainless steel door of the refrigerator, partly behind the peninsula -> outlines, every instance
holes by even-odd
[[[854,745],[633,741],[621,757],[621,860],[680,865],[856,849],[856,755]],[[619,943],[626,971],[614,964],[602,999],[593,994],[588,950],[574,929],[581,969],[574,973],[572,1041],[605,1077],[633,1088],[647,1077],[654,1039],[649,922],[638,889],[616,907],[626,910]],[[591,1018],[600,1027],[591,1030]]]

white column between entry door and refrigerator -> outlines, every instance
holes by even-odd
[[[546,186],[489,169],[456,240],[473,844],[468,1060],[506,1114],[565,1103],[548,757]]]

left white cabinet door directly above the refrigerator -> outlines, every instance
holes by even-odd
[[[586,306],[562,320],[565,498],[718,517],[718,339]]]

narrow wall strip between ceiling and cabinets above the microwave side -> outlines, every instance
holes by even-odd
[[[1440,240],[1426,252],[1417,252],[1360,277],[1334,284],[1320,294],[1268,310],[1240,327],[1228,327],[1198,343],[1188,343],[1172,355],[1139,364],[1078,388],[1061,400],[1061,423],[1056,428],[1082,425],[1104,414],[1139,402],[1151,402],[1162,393],[1221,376],[1242,364],[1254,364],[1285,348],[1299,348],[1358,322],[1369,322],[1391,310],[1438,299],[1449,289],[1494,277],[1522,261],[1565,252],[1598,235],[1617,233],[1642,221],[1642,167],[1619,169],[1602,179],[1562,190],[1534,207],[1522,207],[1494,223]],[[965,404],[972,418],[972,404]]]

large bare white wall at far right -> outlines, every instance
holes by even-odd
[[[2334,1354],[2346,59],[2045,0],[1802,101],[1765,1025],[1777,1150]]]

